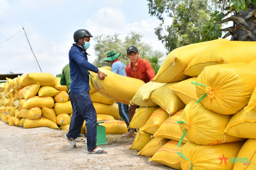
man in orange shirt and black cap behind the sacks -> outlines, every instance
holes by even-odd
[[[127,48],[127,58],[130,59],[129,65],[125,68],[126,76],[140,79],[145,83],[151,81],[155,76],[155,72],[150,62],[146,59],[139,58],[138,49],[135,46]],[[129,107],[129,122],[131,123],[135,110],[140,106],[131,105]],[[134,129],[130,128],[129,132],[122,135],[122,137],[134,138]]]

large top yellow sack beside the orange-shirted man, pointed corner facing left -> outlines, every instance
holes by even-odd
[[[187,79],[189,76],[183,74],[183,71],[188,66],[189,62],[193,60],[198,53],[204,50],[205,47],[223,41],[228,40],[216,39],[213,41],[190,44],[172,50],[172,52],[165,57],[156,77],[152,81],[168,83]]]

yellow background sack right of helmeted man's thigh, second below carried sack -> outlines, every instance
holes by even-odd
[[[120,117],[117,104],[103,104],[92,102],[97,114],[107,114],[113,116],[115,119]]]

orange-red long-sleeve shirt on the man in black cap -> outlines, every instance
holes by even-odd
[[[136,65],[137,70],[132,69],[132,62],[130,61],[129,65],[126,66],[125,72],[127,77],[132,77],[136,79],[140,79],[145,83],[153,80],[156,76],[153,67],[151,66],[150,62],[146,59],[138,59]]]

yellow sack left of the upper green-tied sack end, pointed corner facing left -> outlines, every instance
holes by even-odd
[[[170,86],[170,89],[184,102],[188,104],[193,100],[198,100],[196,96],[196,85],[191,82],[196,82],[197,77],[193,77],[187,80],[180,81],[179,83]]]

